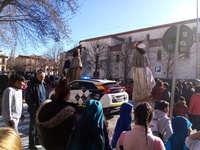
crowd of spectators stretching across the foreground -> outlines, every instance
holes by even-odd
[[[169,83],[156,80],[152,88],[152,101],[123,103],[113,131],[98,100],[88,100],[86,108],[77,114],[77,106],[68,102],[69,80],[72,74],[80,78],[82,64],[80,52],[65,70],[51,97],[45,72],[38,70],[28,83],[25,78],[13,75],[2,95],[2,118],[5,128],[0,128],[0,148],[4,139],[10,138],[13,148],[22,149],[18,124],[24,121],[23,96],[30,114],[29,149],[37,144],[47,150],[196,150],[200,148],[200,86],[180,80],[175,87],[173,118],[170,119],[171,90]],[[70,67],[71,66],[71,67]],[[74,77],[74,76],[73,76]],[[155,124],[153,125],[153,121]],[[152,130],[156,128],[156,134]],[[190,135],[192,129],[197,132]],[[2,142],[2,143],[1,143]],[[14,148],[18,145],[18,149]],[[5,145],[6,146],[6,145]]]

